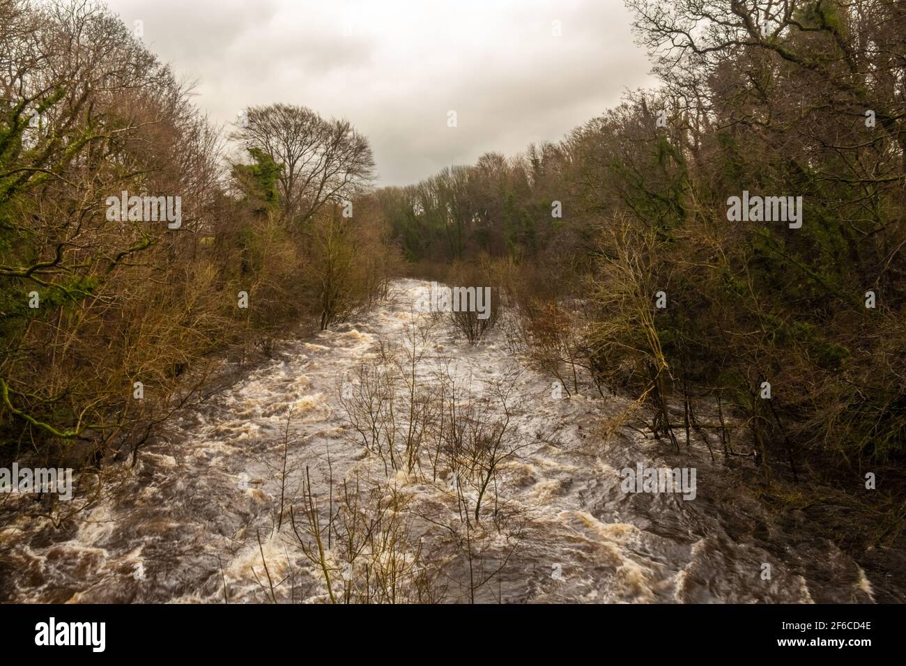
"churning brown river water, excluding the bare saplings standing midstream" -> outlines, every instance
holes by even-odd
[[[272,362],[181,413],[76,519],[56,527],[46,517],[7,515],[0,600],[325,601],[323,576],[294,542],[288,519],[275,528],[281,495],[299,510],[305,466],[323,502],[331,481],[337,487],[353,477],[383,479],[407,497],[410,536],[429,544],[422,556],[439,563],[432,575],[443,578],[446,601],[874,600],[871,574],[829,542],[800,534],[795,518],[782,528],[747,494],[740,480],[754,468],[728,469],[700,446],[676,454],[644,429],[623,427],[604,441],[595,424],[628,401],[591,390],[557,397],[549,375],[511,356],[502,326],[470,346],[445,320],[424,341],[415,375],[430,385],[442,365],[476,391],[506,379],[506,438],[518,442],[486,499],[487,507],[505,507],[506,525],[482,517],[469,526],[470,570],[464,546],[448,538],[449,526],[465,527],[450,484],[430,469],[385,473],[342,413],[342,381],[378,358],[382,345],[404,345],[413,317],[424,316],[412,304],[426,286],[396,281],[386,304],[284,343]],[[624,492],[621,470],[640,463],[695,468],[694,499]],[[439,474],[448,478],[448,470]],[[482,576],[487,582],[475,584]]]

